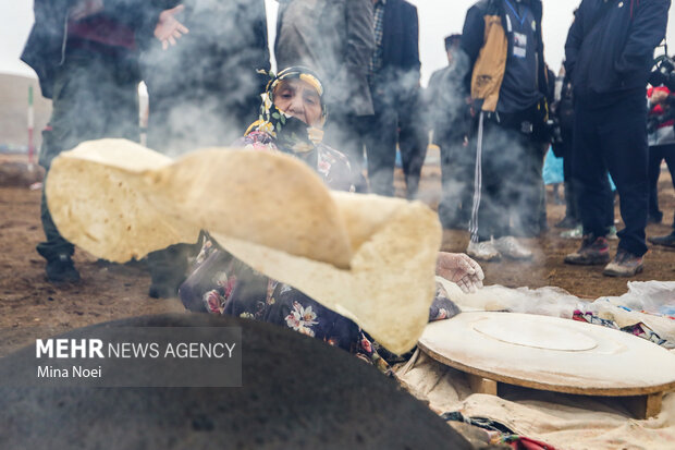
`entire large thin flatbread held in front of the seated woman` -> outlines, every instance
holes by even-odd
[[[392,352],[410,350],[427,324],[438,216],[418,202],[331,192],[291,156],[212,148],[172,161],[90,141],[54,159],[46,195],[61,234],[95,256],[139,258],[207,229]]]

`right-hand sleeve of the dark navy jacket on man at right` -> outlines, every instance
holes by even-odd
[[[619,73],[645,70],[654,48],[665,37],[671,0],[642,0],[630,26],[624,52],[616,63]]]

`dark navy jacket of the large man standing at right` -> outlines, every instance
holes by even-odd
[[[565,44],[575,98],[594,102],[608,93],[643,95],[670,5],[671,0],[581,1]]]

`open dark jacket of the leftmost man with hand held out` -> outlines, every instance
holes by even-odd
[[[34,3],[35,23],[21,60],[37,74],[46,98],[51,98],[54,71],[65,60],[68,13],[76,3],[77,0],[35,0]],[[135,33],[151,35],[160,12],[150,1],[105,0],[101,14],[113,17]]]

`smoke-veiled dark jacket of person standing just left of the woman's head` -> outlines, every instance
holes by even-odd
[[[189,33],[170,51],[157,39],[143,48],[143,74],[150,95],[180,101],[219,95],[226,97],[220,99],[224,104],[257,110],[269,77],[256,71],[270,69],[265,1],[163,1],[162,9],[183,4],[176,19]]]

